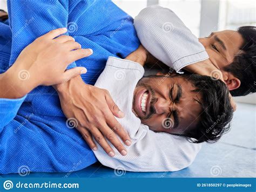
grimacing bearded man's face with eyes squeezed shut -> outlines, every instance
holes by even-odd
[[[184,135],[196,128],[202,112],[200,92],[193,90],[182,76],[144,77],[134,90],[133,113],[154,132]]]

